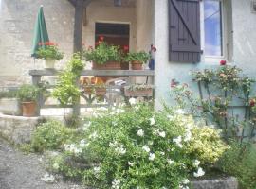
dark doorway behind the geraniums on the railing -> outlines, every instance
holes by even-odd
[[[99,37],[103,36],[104,41],[108,44],[119,46],[129,46],[130,41],[130,25],[128,24],[112,24],[112,23],[96,23],[95,24],[95,42],[99,41]],[[122,70],[128,70],[129,64],[122,63]]]

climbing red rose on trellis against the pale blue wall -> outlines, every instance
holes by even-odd
[[[223,129],[227,141],[229,138],[241,142],[252,139],[256,124],[255,103],[251,96],[255,80],[244,77],[242,70],[235,66],[205,69],[192,76],[199,95],[192,93],[186,84],[176,86],[174,94],[178,104],[190,110],[194,117],[205,119],[207,125]],[[238,104],[242,105],[243,113],[236,113]]]

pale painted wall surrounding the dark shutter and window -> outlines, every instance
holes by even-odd
[[[226,4],[228,16],[225,28],[229,33],[225,35],[228,39],[227,42],[231,46],[233,45],[233,56],[231,53],[231,57],[229,54],[229,59],[228,57],[224,59],[229,60],[232,65],[243,68],[248,75],[254,77],[256,72],[256,32],[253,31],[256,30],[256,14],[251,13],[250,2],[250,0],[231,0],[229,4]],[[201,9],[203,9],[202,6],[203,4],[201,3]],[[203,26],[203,19],[203,16],[201,16],[201,26]],[[230,22],[232,22],[233,29]],[[201,35],[203,41],[204,31],[202,28]],[[233,41],[233,44],[230,41]],[[227,47],[228,43],[224,43],[224,47]],[[158,108],[161,107],[161,100],[174,104],[170,95],[170,82],[172,79],[176,79],[181,83],[188,83],[192,87],[195,84],[192,83],[191,71],[219,66],[219,60],[207,61],[204,54],[200,63],[180,63],[168,60],[168,0],[155,0],[155,45],[157,47],[155,96]],[[204,45],[202,45],[203,49]],[[196,88],[193,90],[197,92]]]

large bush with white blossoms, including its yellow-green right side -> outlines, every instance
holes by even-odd
[[[191,178],[203,176],[228,146],[218,130],[197,127],[179,112],[134,104],[93,117],[82,139],[66,146],[64,158],[87,164],[79,173],[91,187],[188,189]]]

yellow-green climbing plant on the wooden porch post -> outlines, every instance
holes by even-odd
[[[77,86],[77,80],[80,77],[83,67],[84,65],[80,55],[74,54],[64,72],[59,75],[57,85],[52,95],[54,98],[58,99],[62,105],[77,103],[81,94]]]

